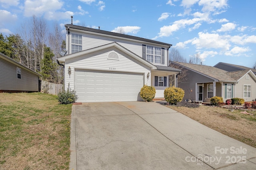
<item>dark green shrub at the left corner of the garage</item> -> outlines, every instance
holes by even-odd
[[[61,104],[75,103],[77,99],[78,99],[78,96],[76,95],[76,91],[71,90],[69,87],[69,84],[66,91],[62,91],[58,94],[58,101]]]

